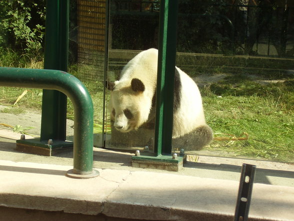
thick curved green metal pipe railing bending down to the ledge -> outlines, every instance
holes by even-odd
[[[39,88],[64,93],[74,107],[73,173],[89,174],[93,166],[93,103],[84,85],[57,70],[1,68],[0,86]]]

